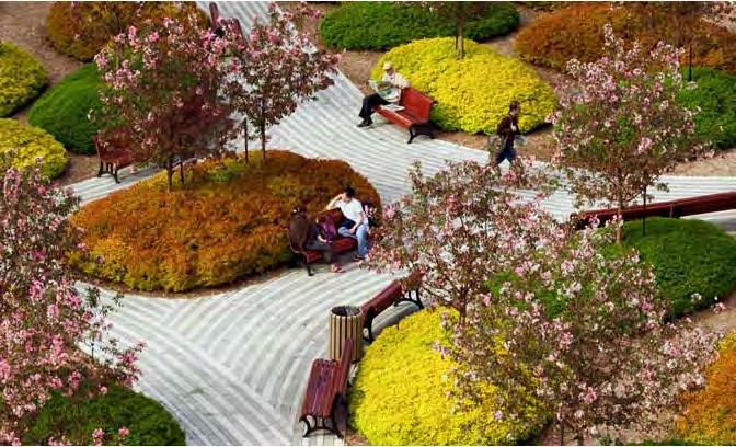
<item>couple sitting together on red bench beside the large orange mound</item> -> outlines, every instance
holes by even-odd
[[[358,242],[358,252],[353,261],[365,260],[368,254],[368,237],[371,228],[377,226],[376,207],[370,203],[360,204],[355,198],[355,191],[348,186],[330,200],[325,210],[335,208],[340,208],[344,216],[341,222],[333,222],[326,214],[320,214],[313,221],[310,221],[303,207],[297,206],[291,211],[289,239],[301,251],[322,252],[325,262],[331,264],[332,272],[342,273],[343,268],[337,263],[332,247],[333,241],[337,234],[355,239]]]

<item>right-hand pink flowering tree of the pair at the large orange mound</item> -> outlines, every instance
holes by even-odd
[[[243,115],[241,128],[248,159],[249,122],[261,137],[263,160],[266,159],[266,129],[294,113],[300,102],[333,84],[338,56],[317,48],[311,35],[300,30],[308,18],[319,11],[296,5],[279,11],[268,5],[268,21],[257,20],[248,35],[237,21],[220,19],[226,39],[232,45],[216,45],[228,55],[228,71],[233,76],[227,91],[234,108]]]

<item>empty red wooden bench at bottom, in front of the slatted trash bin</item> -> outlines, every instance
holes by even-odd
[[[342,408],[347,416],[346,392],[353,345],[353,339],[345,341],[340,362],[319,358],[312,363],[299,417],[307,425],[304,437],[317,429],[326,429],[343,437],[337,426],[337,411]]]

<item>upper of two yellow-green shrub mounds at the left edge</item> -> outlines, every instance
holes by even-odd
[[[36,98],[47,80],[46,69],[28,51],[0,41],[0,117]]]

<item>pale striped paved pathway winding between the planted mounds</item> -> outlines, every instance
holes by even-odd
[[[221,2],[219,8],[222,16],[240,19],[244,28],[266,11],[265,3],[256,2]],[[382,122],[359,129],[355,115],[360,99],[358,89],[337,74],[334,87],[271,129],[268,146],[345,160],[368,177],[384,204],[410,192],[406,173],[415,160],[432,173],[442,169],[445,160],[487,157],[423,137],[406,145],[405,131]],[[242,147],[242,141],[235,144]],[[149,173],[124,172],[119,185],[105,176],[72,187],[87,203]],[[736,179],[728,177],[666,181],[671,191],[657,193],[658,200],[736,190]],[[565,193],[552,196],[547,207],[561,219],[573,210]],[[705,217],[736,229],[736,211]],[[112,318],[113,333],[126,342],[147,343],[137,388],[172,412],[191,445],[335,444],[340,440],[333,436],[301,438],[297,419],[309,367],[327,354],[329,310],[360,303],[390,279],[354,266],[342,275],[321,267],[315,277],[290,270],[260,284],[196,299],[126,294],[124,307]],[[411,311],[412,305],[399,306],[379,317],[377,325],[392,324]]]

